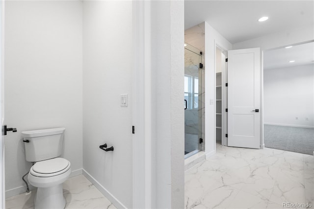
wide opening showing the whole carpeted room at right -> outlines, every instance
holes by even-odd
[[[313,155],[314,42],[264,52],[265,147]]]

